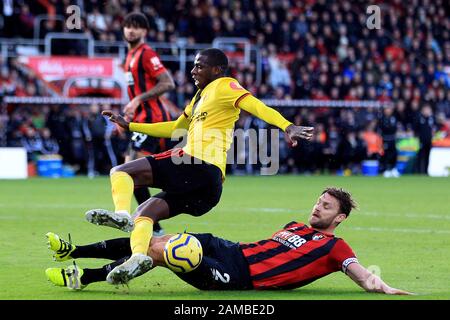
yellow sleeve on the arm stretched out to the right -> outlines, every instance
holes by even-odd
[[[270,123],[281,130],[285,131],[292,122],[286,120],[278,111],[266,106],[261,100],[255,98],[251,94],[242,97],[237,101],[236,107],[245,110],[254,116]]]

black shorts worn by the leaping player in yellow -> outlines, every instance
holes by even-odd
[[[212,164],[172,149],[146,157],[152,166],[154,197],[164,199],[171,217],[180,213],[201,216],[217,205],[222,195],[222,172]]]

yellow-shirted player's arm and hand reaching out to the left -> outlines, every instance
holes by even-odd
[[[102,114],[109,117],[111,122],[116,123],[127,131],[140,132],[157,138],[178,138],[183,135],[182,130],[175,132],[176,129],[187,129],[189,122],[184,114],[175,121],[165,121],[157,123],[137,123],[125,120],[121,115],[112,111],[105,110]]]

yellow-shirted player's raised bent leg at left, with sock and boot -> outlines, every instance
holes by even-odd
[[[86,219],[93,224],[130,232],[133,230],[130,210],[134,187],[152,185],[152,167],[147,159],[137,159],[114,167],[110,176],[115,210],[89,210]]]

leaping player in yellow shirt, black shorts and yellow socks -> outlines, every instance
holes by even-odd
[[[94,224],[132,231],[132,255],[108,274],[109,283],[127,283],[150,270],[153,261],[147,249],[154,223],[180,213],[200,216],[217,205],[225,178],[226,153],[241,109],[285,131],[293,146],[299,139],[311,139],[313,127],[293,125],[253,97],[237,80],[225,76],[227,68],[228,59],[219,49],[206,49],[196,55],[191,74],[199,90],[175,121],[129,123],[120,115],[103,112],[126,130],[154,137],[180,137],[187,130],[187,143],[182,149],[114,167],[110,178],[115,210],[86,212],[87,220]],[[160,188],[162,192],[141,204],[133,219],[133,189],[140,186]]]

